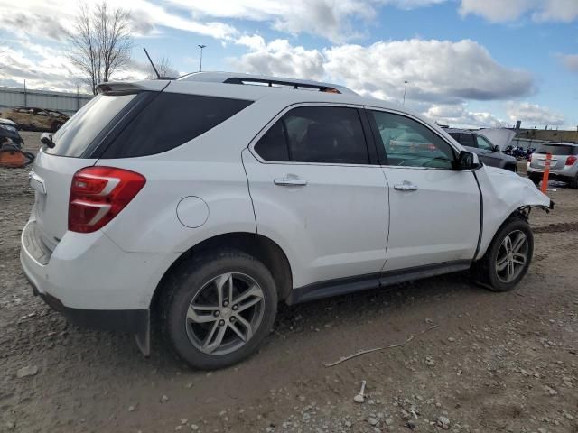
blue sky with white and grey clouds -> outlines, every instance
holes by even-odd
[[[89,4],[94,0],[89,0]],[[578,125],[578,0],[124,0],[133,61],[323,79],[461,126]],[[75,90],[75,0],[0,0],[0,86]]]

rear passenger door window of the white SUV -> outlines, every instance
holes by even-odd
[[[368,164],[356,108],[302,106],[279,119],[255,145],[266,161]]]

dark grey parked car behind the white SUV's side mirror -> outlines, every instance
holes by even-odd
[[[475,152],[484,164],[517,173],[516,158],[501,152],[499,145],[491,143],[484,135],[461,129],[446,129],[446,132],[463,147]]]

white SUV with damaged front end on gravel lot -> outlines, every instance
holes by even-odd
[[[198,73],[98,89],[42,137],[21,261],[52,308],[134,333],[145,355],[153,315],[213,369],[256,350],[279,301],[468,269],[509,290],[532,259],[529,209],[551,206],[348,88]]]

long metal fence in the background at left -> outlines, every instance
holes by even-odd
[[[30,106],[58,110],[67,115],[76,113],[92,98],[92,95],[26,88],[0,88],[0,111],[2,108]]]

